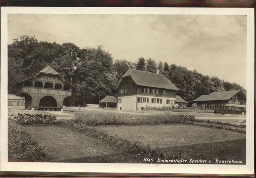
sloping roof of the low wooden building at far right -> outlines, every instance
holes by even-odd
[[[241,90],[231,90],[223,92],[212,92],[211,94],[203,94],[193,101],[217,101],[217,100],[229,100],[231,97],[242,91]],[[244,96],[244,93],[242,93]],[[245,96],[244,96],[245,97]]]

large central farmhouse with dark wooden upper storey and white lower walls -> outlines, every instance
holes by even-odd
[[[174,105],[179,90],[162,74],[130,69],[118,81],[117,109],[143,110],[145,107]]]

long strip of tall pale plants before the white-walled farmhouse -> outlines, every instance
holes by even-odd
[[[195,120],[195,116],[172,114],[131,116],[117,113],[78,113],[75,115],[75,119],[73,119],[73,122],[81,123],[84,125],[155,125],[168,123],[184,123],[185,121],[191,120]]]

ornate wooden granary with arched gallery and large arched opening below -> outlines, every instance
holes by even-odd
[[[74,86],[69,84],[52,67],[46,66],[35,76],[14,85],[16,96],[25,101],[25,109],[60,110],[63,102],[71,99]]]

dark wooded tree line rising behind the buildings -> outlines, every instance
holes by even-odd
[[[72,80],[72,85],[76,87],[72,103],[74,101],[80,105],[98,104],[106,95],[115,96],[117,81],[129,69],[154,73],[159,70],[180,89],[177,95],[188,101],[189,105],[193,99],[211,92],[242,90],[246,94],[242,86],[217,76],[204,76],[196,69],[191,71],[173,63],[157,63],[154,59],[143,57],[139,57],[137,62],[114,60],[102,46],[80,49],[74,43],[38,41],[34,36],[21,36],[8,45],[8,94],[12,94],[16,82],[34,76],[47,65],[52,66],[68,82]]]

